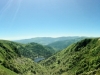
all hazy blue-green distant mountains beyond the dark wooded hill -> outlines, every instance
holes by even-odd
[[[24,43],[24,44],[35,42],[38,44],[52,47],[55,50],[55,52],[57,52],[57,51],[63,50],[64,48],[68,47],[69,45],[76,43],[80,40],[83,40],[85,38],[87,38],[87,37],[78,37],[78,36],[58,37],[58,38],[37,37],[37,38],[32,38],[32,39],[15,40],[15,42]]]

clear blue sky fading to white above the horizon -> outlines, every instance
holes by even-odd
[[[100,35],[100,0],[0,0],[0,39]]]

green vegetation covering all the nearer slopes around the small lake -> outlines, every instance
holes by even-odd
[[[37,43],[0,40],[0,75],[100,75],[99,38],[84,39],[51,57],[48,52],[53,54],[51,47]],[[42,54],[46,60],[32,60]]]

